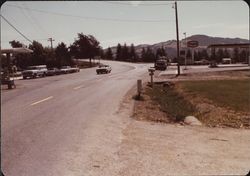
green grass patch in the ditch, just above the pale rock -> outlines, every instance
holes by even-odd
[[[147,95],[153,102],[160,105],[160,110],[167,113],[172,121],[182,121],[186,116],[194,115],[196,108],[178,93],[174,87],[155,85],[147,88]]]

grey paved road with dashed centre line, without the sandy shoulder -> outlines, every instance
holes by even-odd
[[[116,118],[120,103],[149,65],[109,63],[110,74],[82,69],[16,80],[16,89],[2,90],[5,175],[92,175],[100,167],[98,160],[111,158],[123,126]]]

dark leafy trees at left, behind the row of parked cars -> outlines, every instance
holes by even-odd
[[[10,41],[11,47],[23,47],[19,41]],[[43,47],[38,41],[33,41],[28,48],[33,50],[28,54],[15,54],[13,63],[18,68],[24,69],[32,65],[47,65],[47,67],[61,68],[64,65],[73,66],[77,59],[89,59],[90,66],[95,56],[102,53],[99,41],[92,35],[77,34],[77,39],[67,46],[65,43],[59,43],[56,48]],[[1,55],[1,66],[7,66],[7,58]]]

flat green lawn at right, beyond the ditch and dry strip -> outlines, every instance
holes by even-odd
[[[250,112],[250,79],[179,82],[183,90],[213,101],[217,106]]]

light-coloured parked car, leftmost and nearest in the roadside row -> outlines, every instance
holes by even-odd
[[[29,66],[26,70],[22,72],[23,79],[26,78],[36,78],[36,77],[44,77],[47,74],[47,66],[46,65],[35,65]]]

